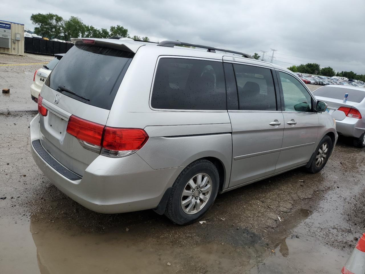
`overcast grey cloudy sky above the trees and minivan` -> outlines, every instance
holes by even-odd
[[[317,62],[336,71],[365,74],[365,0],[320,1],[90,1],[16,0],[1,4],[1,20],[33,29],[32,13],[68,19],[129,34],[200,43],[261,55],[282,66]],[[5,12],[4,12],[5,11]]]

